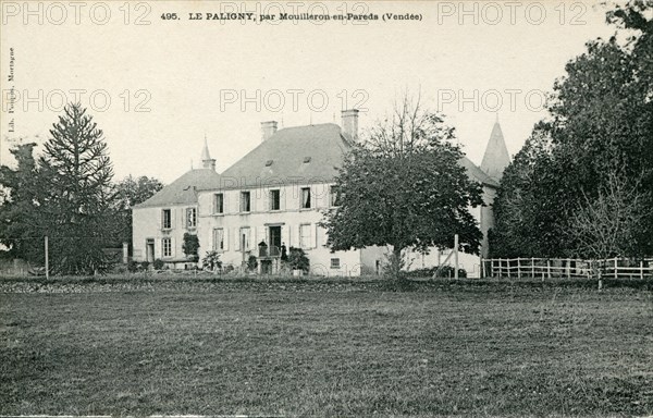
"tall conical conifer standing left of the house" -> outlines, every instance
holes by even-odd
[[[66,104],[39,159],[39,223],[60,273],[102,271],[113,169],[102,131],[81,104]]]

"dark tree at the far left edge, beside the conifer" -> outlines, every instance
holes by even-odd
[[[10,152],[16,167],[0,167],[0,242],[9,256],[42,263],[44,239],[37,228],[38,165],[36,144],[20,144]]]

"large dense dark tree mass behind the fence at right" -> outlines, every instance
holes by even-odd
[[[533,132],[546,147],[527,142],[502,180],[493,256],[589,255],[593,251],[581,220],[592,219],[595,232],[607,231],[614,225],[600,211],[639,213],[639,207],[653,207],[651,11],[651,1],[616,7],[607,21],[619,32],[588,42],[587,51],[566,65],[547,103],[551,118]],[[621,35],[628,35],[625,41]],[[625,233],[639,231],[637,246],[619,246],[619,255],[653,254],[653,213],[619,222]],[[600,246],[613,247],[607,242]]]

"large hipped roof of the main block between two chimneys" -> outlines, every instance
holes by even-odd
[[[334,123],[286,127],[224,171],[219,186],[208,188],[331,182],[349,149]]]

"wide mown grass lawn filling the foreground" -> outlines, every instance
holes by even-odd
[[[0,415],[653,414],[650,287],[57,290],[0,293]]]

